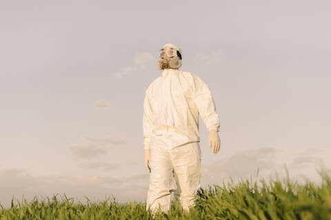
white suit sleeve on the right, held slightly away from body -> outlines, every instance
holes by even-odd
[[[198,111],[208,131],[215,129],[219,132],[219,115],[216,111],[212,92],[199,76],[196,74],[193,74],[193,76],[194,103],[197,105]]]

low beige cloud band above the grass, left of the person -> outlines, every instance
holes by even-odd
[[[73,197],[78,203],[86,203],[84,196],[91,202],[103,201],[114,195],[116,201],[144,201],[147,197],[148,175],[137,174],[114,178],[110,175],[31,175],[23,168],[3,168],[0,170],[0,203],[3,208],[10,208],[12,195],[14,203],[22,197],[30,202],[35,196],[39,198]],[[137,181],[138,180],[138,181]],[[140,181],[140,182],[139,182]],[[139,184],[140,183],[140,184]]]

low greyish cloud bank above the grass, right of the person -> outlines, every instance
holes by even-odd
[[[320,149],[309,148],[299,153],[290,154],[277,148],[263,147],[238,151],[229,157],[223,157],[217,162],[203,164],[201,167],[201,185],[222,185],[223,181],[230,181],[230,177],[236,181],[241,178],[269,179],[274,174],[283,173],[287,166],[290,176],[303,181],[310,179],[319,182],[321,177],[316,168],[323,166],[323,159],[312,153],[321,153]],[[294,155],[294,156],[293,156]],[[299,155],[299,156],[298,156]],[[259,168],[259,173],[257,170]],[[300,179],[302,177],[303,179]]]

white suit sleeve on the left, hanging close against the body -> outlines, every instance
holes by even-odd
[[[150,99],[145,93],[145,99],[143,100],[143,148],[150,149],[150,137],[152,136],[153,123],[152,123],[152,107]]]

